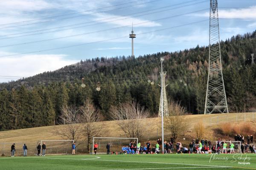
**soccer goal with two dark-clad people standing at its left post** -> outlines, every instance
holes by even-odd
[[[35,155],[38,154],[38,144],[41,144],[40,155],[42,155],[42,145],[45,143],[45,155],[72,154],[72,144],[74,140],[40,140],[35,146]]]

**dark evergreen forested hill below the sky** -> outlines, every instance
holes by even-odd
[[[221,42],[224,83],[230,112],[256,110],[256,32]],[[160,57],[165,57],[168,100],[179,101],[189,113],[204,112],[208,47],[134,57],[96,58],[57,71],[0,84],[0,130],[53,125],[63,105],[91,99],[110,119],[111,105],[132,99],[152,116],[158,113]],[[84,78],[85,88],[81,88]],[[100,91],[96,91],[100,87]]]

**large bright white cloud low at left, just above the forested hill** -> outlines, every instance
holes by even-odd
[[[0,54],[10,53],[0,52]],[[66,57],[66,55],[62,54],[34,54],[21,57],[3,57],[0,58],[0,75],[29,77],[44,71],[54,71],[66,65],[79,62],[79,60],[66,59]],[[0,82],[10,80],[11,79],[0,79]]]

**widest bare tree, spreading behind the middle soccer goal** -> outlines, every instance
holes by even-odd
[[[111,107],[111,118],[118,120],[117,125],[127,137],[141,140],[143,134],[148,130],[150,122],[142,119],[148,118],[149,113],[137,102],[122,103],[119,107]]]

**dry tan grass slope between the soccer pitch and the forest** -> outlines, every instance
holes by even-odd
[[[236,122],[236,115],[238,115],[238,122]],[[252,121],[252,113],[245,113],[246,115],[246,123],[251,125],[251,127],[256,126],[256,113],[254,113],[254,121]],[[223,116],[227,116],[227,119]],[[204,139],[211,139],[215,141],[217,138],[221,139],[233,139],[233,136],[228,137],[221,133],[216,133],[218,128],[222,125],[228,123],[233,123],[233,125],[238,125],[239,122],[244,122],[244,113],[228,113],[228,114],[211,114],[211,115],[187,115],[185,116],[186,122],[189,125],[189,129],[186,130],[184,134],[180,136],[180,140],[184,145],[189,144],[189,142],[196,138],[195,132],[193,130],[194,124],[196,122],[205,122],[206,134],[203,136]],[[217,122],[217,119],[219,121]],[[212,120],[212,126],[209,124],[209,120]],[[142,119],[143,122],[152,122],[150,131],[146,132],[143,135],[142,143],[146,142],[148,139],[151,140],[152,144],[154,144],[157,138],[161,137],[161,126],[160,126],[160,118],[150,118],[150,119]],[[227,122],[226,122],[227,121]],[[98,126],[103,125],[104,134],[100,137],[126,137],[125,133],[119,128],[116,124],[116,121],[107,121],[107,122],[96,122]],[[3,152],[3,144],[1,142],[9,142],[7,144],[7,148],[11,146],[12,143],[16,143],[16,147],[20,147],[23,143],[29,148],[29,153],[34,154],[35,146],[39,140],[63,140],[61,136],[56,135],[55,128],[65,128],[67,125],[58,125],[58,126],[47,126],[47,127],[34,127],[28,129],[19,129],[19,130],[8,130],[0,132],[0,154]],[[252,128],[253,129],[253,128]],[[217,131],[216,131],[217,130]],[[255,129],[254,132],[256,133]],[[243,134],[247,135],[247,134]],[[256,135],[256,134],[255,134]],[[168,130],[165,130],[165,138],[166,140],[170,140],[171,133]],[[186,140],[183,140],[185,138]],[[85,142],[85,138],[83,137],[79,141],[76,141],[78,145],[78,152],[86,152],[87,143]],[[18,144],[20,143],[20,144]],[[49,146],[48,142],[48,146]],[[52,144],[54,145],[54,144]],[[57,144],[56,144],[57,145]],[[56,147],[56,145],[54,145]],[[91,146],[91,145],[90,145]],[[8,148],[9,149],[9,148]],[[21,152],[21,148],[17,148],[17,152]],[[7,152],[8,153],[8,152]]]

